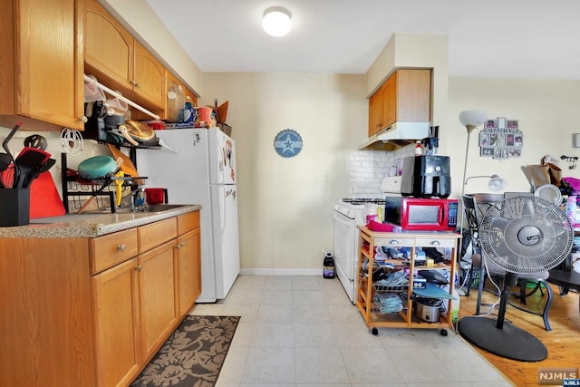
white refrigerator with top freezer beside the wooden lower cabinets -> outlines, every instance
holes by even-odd
[[[171,204],[199,204],[201,295],[226,298],[239,274],[236,144],[218,128],[156,131],[170,148],[137,150],[145,188],[168,189]]]

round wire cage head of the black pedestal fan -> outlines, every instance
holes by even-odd
[[[574,242],[574,227],[562,208],[538,197],[507,198],[490,206],[479,240],[495,266],[518,275],[540,274],[559,265]]]

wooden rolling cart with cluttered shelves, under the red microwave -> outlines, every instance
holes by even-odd
[[[453,310],[452,293],[457,261],[459,234],[452,232],[375,232],[359,226],[358,254],[358,291],[356,305],[372,334],[378,334],[377,328],[439,328],[440,334],[447,335],[447,328],[452,328],[451,311]],[[375,259],[376,247],[382,249],[401,249],[407,252],[406,257],[380,260]],[[444,261],[427,266],[416,259],[425,247],[436,248],[444,256]],[[419,266],[421,265],[421,266]],[[416,270],[443,269],[449,273],[449,287],[425,284],[415,275]],[[389,273],[409,273],[408,279],[395,285],[380,285],[378,277]],[[373,278],[374,277],[374,278]],[[374,279],[374,281],[373,281]],[[448,299],[445,311],[439,314],[438,321],[427,322],[413,314],[417,307],[416,297]]]

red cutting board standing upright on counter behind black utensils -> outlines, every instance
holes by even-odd
[[[43,172],[30,185],[30,218],[64,215],[63,200],[54,185],[51,172]]]

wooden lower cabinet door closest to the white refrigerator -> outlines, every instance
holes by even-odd
[[[199,228],[179,237],[178,247],[179,316],[183,316],[188,314],[201,293]]]

